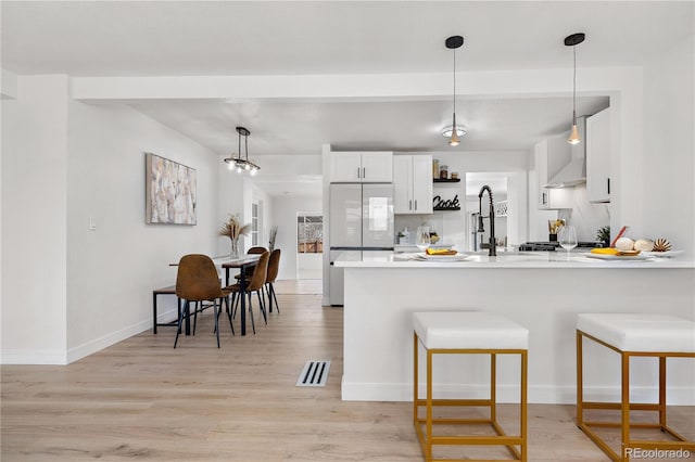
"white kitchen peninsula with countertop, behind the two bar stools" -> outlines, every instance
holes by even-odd
[[[605,261],[572,254],[568,261],[560,252],[472,255],[463,261],[400,258],[381,254],[352,261],[339,258],[334,264],[344,268],[345,274],[343,400],[413,399],[415,311],[490,311],[528,328],[532,403],[576,402],[577,313],[695,317],[695,264],[690,260]],[[585,371],[585,396],[617,398],[618,355],[594,345],[585,345],[584,351],[593,356],[595,364]],[[455,357],[441,361],[444,367],[435,368],[433,381],[440,396],[488,396],[488,359]],[[497,372],[498,399],[515,402],[518,360],[502,355],[498,362],[504,362]],[[656,363],[648,359],[633,362],[634,396],[656,399]],[[668,368],[669,402],[695,405],[693,361],[669,360]]]

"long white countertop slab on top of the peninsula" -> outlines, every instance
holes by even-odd
[[[412,259],[417,254],[391,252],[352,253],[339,256],[334,266],[340,268],[695,268],[695,261],[675,258],[615,259],[602,260],[572,253],[569,260],[565,252],[498,252],[496,257],[488,254],[460,253],[456,257],[431,260]],[[419,254],[422,255],[422,254]]]

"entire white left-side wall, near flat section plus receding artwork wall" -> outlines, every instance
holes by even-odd
[[[3,101],[3,363],[66,363],[151,329],[168,264],[214,253],[217,157],[127,106],[67,94],[67,77],[20,77]],[[144,152],[197,169],[197,226],[144,224]]]

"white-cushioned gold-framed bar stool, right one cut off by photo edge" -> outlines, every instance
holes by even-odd
[[[621,359],[620,402],[584,401],[583,338],[596,342],[618,352]],[[659,358],[658,403],[630,401],[630,358]],[[577,425],[614,461],[627,461],[643,450],[694,451],[695,442],[667,426],[666,359],[695,358],[695,322],[665,315],[591,313],[577,318]],[[589,362],[589,361],[586,361]],[[620,422],[584,421],[585,409],[620,410]],[[658,423],[630,424],[630,410],[658,412]],[[621,452],[618,454],[591,427],[618,427],[621,431]],[[632,439],[630,428],[659,428],[673,439]]]

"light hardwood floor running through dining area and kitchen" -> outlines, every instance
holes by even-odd
[[[2,461],[422,460],[409,402],[340,400],[342,309],[320,306],[320,281],[278,285],[280,313],[264,325],[256,312],[257,334],[245,337],[222,323],[220,349],[207,311],[177,349],[161,328],[67,367],[2,367]],[[309,359],[332,361],[325,388],[295,387]],[[670,412],[695,437],[693,408]],[[501,414],[516,422],[516,407]],[[576,427],[573,407],[533,405],[529,460],[608,459]]]

